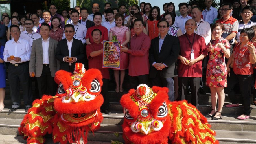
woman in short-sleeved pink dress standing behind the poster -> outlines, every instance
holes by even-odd
[[[124,15],[122,13],[117,13],[115,15],[115,24],[116,26],[111,28],[109,31],[109,41],[113,39],[113,35],[117,36],[117,40],[121,42],[122,46],[126,46],[130,41],[130,31],[129,28],[124,26]],[[127,46],[126,46],[127,47]],[[118,93],[119,91],[122,93],[123,82],[125,69],[128,69],[128,55],[124,52],[120,54],[120,69],[114,69],[114,77],[116,88],[115,91]],[[120,86],[119,86],[119,71],[120,71]]]

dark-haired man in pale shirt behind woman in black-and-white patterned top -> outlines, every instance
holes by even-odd
[[[192,19],[192,17],[187,15],[187,8],[188,4],[187,3],[180,3],[179,5],[179,10],[180,10],[180,16],[175,17],[175,22],[174,26],[179,27],[181,29],[181,32],[185,34],[185,23],[187,20]]]

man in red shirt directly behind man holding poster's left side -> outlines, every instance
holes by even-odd
[[[93,43],[93,37],[91,35],[92,31],[94,29],[99,29],[102,33],[102,37],[100,38],[100,42],[103,44],[103,41],[107,41],[108,40],[108,29],[105,28],[104,26],[101,26],[101,22],[102,22],[102,14],[100,12],[95,12],[93,15],[93,22],[95,24],[95,26],[92,26],[90,28],[88,28],[85,39],[86,39],[86,44],[91,44]]]

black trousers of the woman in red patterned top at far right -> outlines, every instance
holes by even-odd
[[[245,115],[250,115],[251,106],[251,85],[253,81],[253,75],[236,75],[233,69],[230,69],[230,77],[227,79],[226,93],[228,94],[232,104],[237,104],[238,100],[234,92],[234,87],[237,83],[240,86],[240,93],[243,97],[243,105]]]

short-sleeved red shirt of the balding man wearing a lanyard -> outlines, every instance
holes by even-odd
[[[195,35],[195,39],[194,39]],[[187,36],[187,37],[186,37]],[[194,58],[196,59],[201,54],[206,55],[207,49],[205,40],[202,36],[192,33],[188,35],[187,33],[178,37],[180,40],[180,55],[186,59],[191,59],[191,44],[193,45]],[[189,39],[189,41],[188,41]],[[193,42],[194,39],[194,42]],[[178,77],[202,77],[202,60],[196,62],[192,66],[185,65],[178,60]]]

